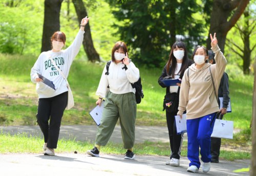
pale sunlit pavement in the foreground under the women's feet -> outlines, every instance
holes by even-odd
[[[123,159],[120,155],[101,155],[100,158],[80,154],[57,154],[44,156],[38,154],[8,154],[0,155],[0,175],[3,176],[46,176],[46,175],[215,175],[244,176],[248,172],[234,173],[234,169],[248,167],[248,160],[229,162],[221,161],[212,164],[208,173],[187,172],[188,160],[181,158],[180,167],[165,165],[168,157],[136,156],[135,160]]]

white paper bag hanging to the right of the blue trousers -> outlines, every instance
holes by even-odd
[[[211,137],[233,139],[233,121],[216,119]]]

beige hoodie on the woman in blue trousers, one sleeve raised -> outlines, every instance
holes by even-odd
[[[220,51],[218,45],[211,48],[215,53],[216,64],[205,63],[200,69],[192,64],[185,70],[180,88],[180,102],[178,108],[178,115],[182,115],[186,110],[187,119],[199,118],[214,112],[219,111],[219,105],[216,95],[218,96],[218,89],[220,81],[223,76],[227,60]],[[212,84],[210,70],[214,85]],[[189,73],[189,77],[187,76]]]

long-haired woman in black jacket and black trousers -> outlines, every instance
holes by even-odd
[[[177,102],[175,102],[177,105],[175,107],[175,111],[169,112],[168,110],[165,110],[171,150],[170,160],[165,163],[166,165],[180,165],[180,152],[183,134],[177,134],[174,117],[178,112],[180,83],[177,83],[177,86],[166,87],[162,81],[168,79],[182,79],[184,71],[193,63],[194,61],[187,57],[185,44],[182,41],[175,42],[170,50],[169,60],[164,66],[162,74],[158,79],[159,85],[166,88],[165,97],[167,94],[173,93],[177,99]]]

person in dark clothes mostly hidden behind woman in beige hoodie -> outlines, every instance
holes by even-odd
[[[214,59],[214,52],[211,50],[208,51],[209,59],[208,62],[210,64],[215,64]],[[220,106],[220,99],[219,97],[223,97],[223,107],[220,109],[220,112],[218,113],[218,117],[223,118],[223,115],[227,113],[227,106],[229,103],[229,91],[228,91],[228,75],[226,72],[224,72],[221,83],[218,91],[218,104]],[[221,148],[221,138],[211,138],[211,163],[219,163],[219,156],[220,156],[220,148]]]

